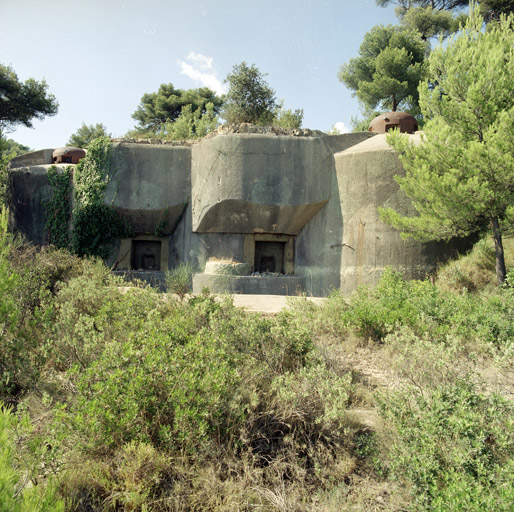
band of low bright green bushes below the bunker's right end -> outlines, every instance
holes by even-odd
[[[455,294],[428,281],[405,281],[391,268],[375,288],[359,288],[349,299],[332,294],[323,310],[325,329],[353,329],[376,341],[401,326],[434,341],[455,336],[486,351],[509,350],[514,340],[514,300],[508,288],[489,295]]]

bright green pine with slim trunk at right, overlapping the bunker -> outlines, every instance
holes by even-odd
[[[390,209],[382,218],[420,240],[493,230],[498,281],[505,279],[502,222],[514,209],[514,17],[482,31],[472,12],[463,31],[429,58],[420,105],[425,139],[394,134],[406,175],[398,178],[417,217]]]

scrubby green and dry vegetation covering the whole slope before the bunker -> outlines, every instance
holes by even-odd
[[[512,510],[514,288],[487,241],[435,284],[390,269],[264,316],[2,222],[1,510]]]

